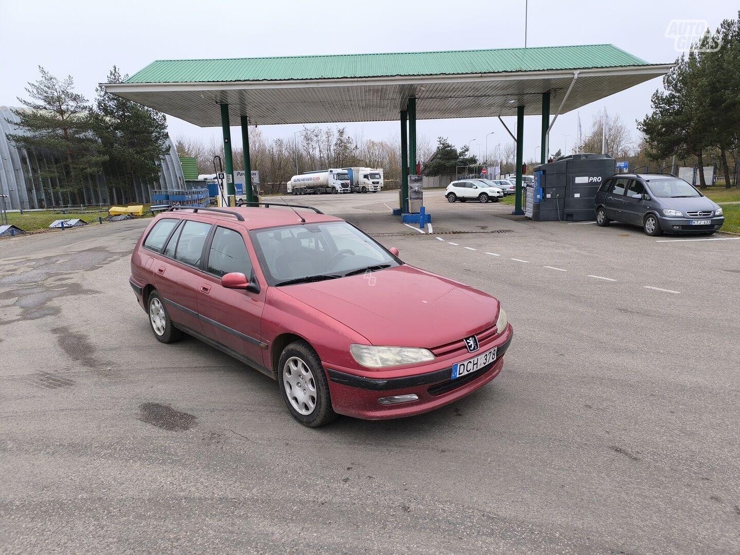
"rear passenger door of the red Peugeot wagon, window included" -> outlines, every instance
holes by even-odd
[[[202,332],[198,319],[199,266],[210,229],[210,223],[184,220],[169,238],[161,257],[152,264],[155,286],[169,317],[195,332]]]

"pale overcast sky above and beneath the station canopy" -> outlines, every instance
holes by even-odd
[[[714,30],[722,19],[737,16],[728,0],[670,2],[650,0],[554,2],[529,0],[527,46],[611,43],[649,63],[673,62],[673,40],[665,38],[672,19],[703,19]],[[38,78],[38,65],[63,77],[72,75],[78,92],[94,98],[113,64],[135,73],[155,59],[239,58],[270,55],[473,50],[524,46],[525,0],[463,1],[81,1],[0,0],[3,21],[0,56],[0,104],[18,105],[27,81]],[[650,95],[661,84],[653,79],[589,104],[579,112],[584,133],[606,107],[630,128],[650,110]],[[556,107],[552,107],[555,110]],[[514,119],[507,118],[513,129]],[[168,117],[172,138],[214,136]],[[346,124],[349,132],[384,139],[399,132],[397,122]],[[525,118],[525,159],[539,146],[539,116]],[[260,127],[268,137],[292,138],[301,126]],[[496,118],[420,120],[418,133],[436,143],[439,135],[461,147],[477,139],[489,150],[509,138]],[[568,135],[567,138],[563,135]],[[636,135],[636,133],[635,133]],[[240,135],[233,133],[234,144]],[[576,112],[561,115],[551,132],[551,152],[568,149],[576,139]],[[255,168],[259,169],[259,168]]]

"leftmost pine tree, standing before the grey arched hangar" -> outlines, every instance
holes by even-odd
[[[25,133],[8,138],[19,148],[54,152],[55,164],[38,175],[55,179],[60,193],[70,202],[79,201],[77,193],[88,184],[87,178],[101,172],[106,160],[95,137],[95,118],[84,96],[74,91],[71,76],[60,81],[41,66],[38,71],[41,78],[26,87],[31,100],[18,99],[27,110],[12,110]]]

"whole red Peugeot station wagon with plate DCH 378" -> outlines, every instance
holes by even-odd
[[[190,334],[264,372],[309,426],[452,403],[499,374],[511,343],[494,297],[309,206],[164,212],[130,283],[157,340]]]

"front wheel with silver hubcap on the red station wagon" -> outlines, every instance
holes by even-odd
[[[280,354],[277,369],[280,393],[295,420],[318,428],[337,417],[326,373],[312,346],[303,340],[290,343]]]

